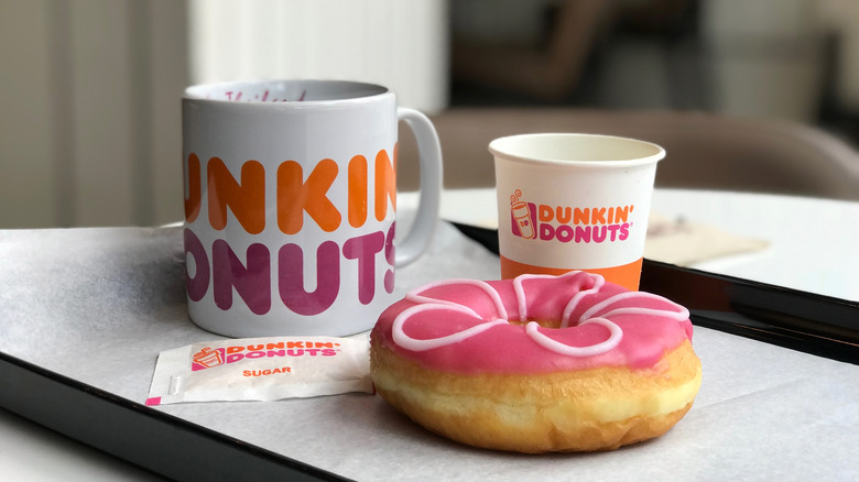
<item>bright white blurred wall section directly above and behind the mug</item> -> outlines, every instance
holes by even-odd
[[[191,0],[189,12],[194,83],[351,79],[447,107],[447,0]]]

